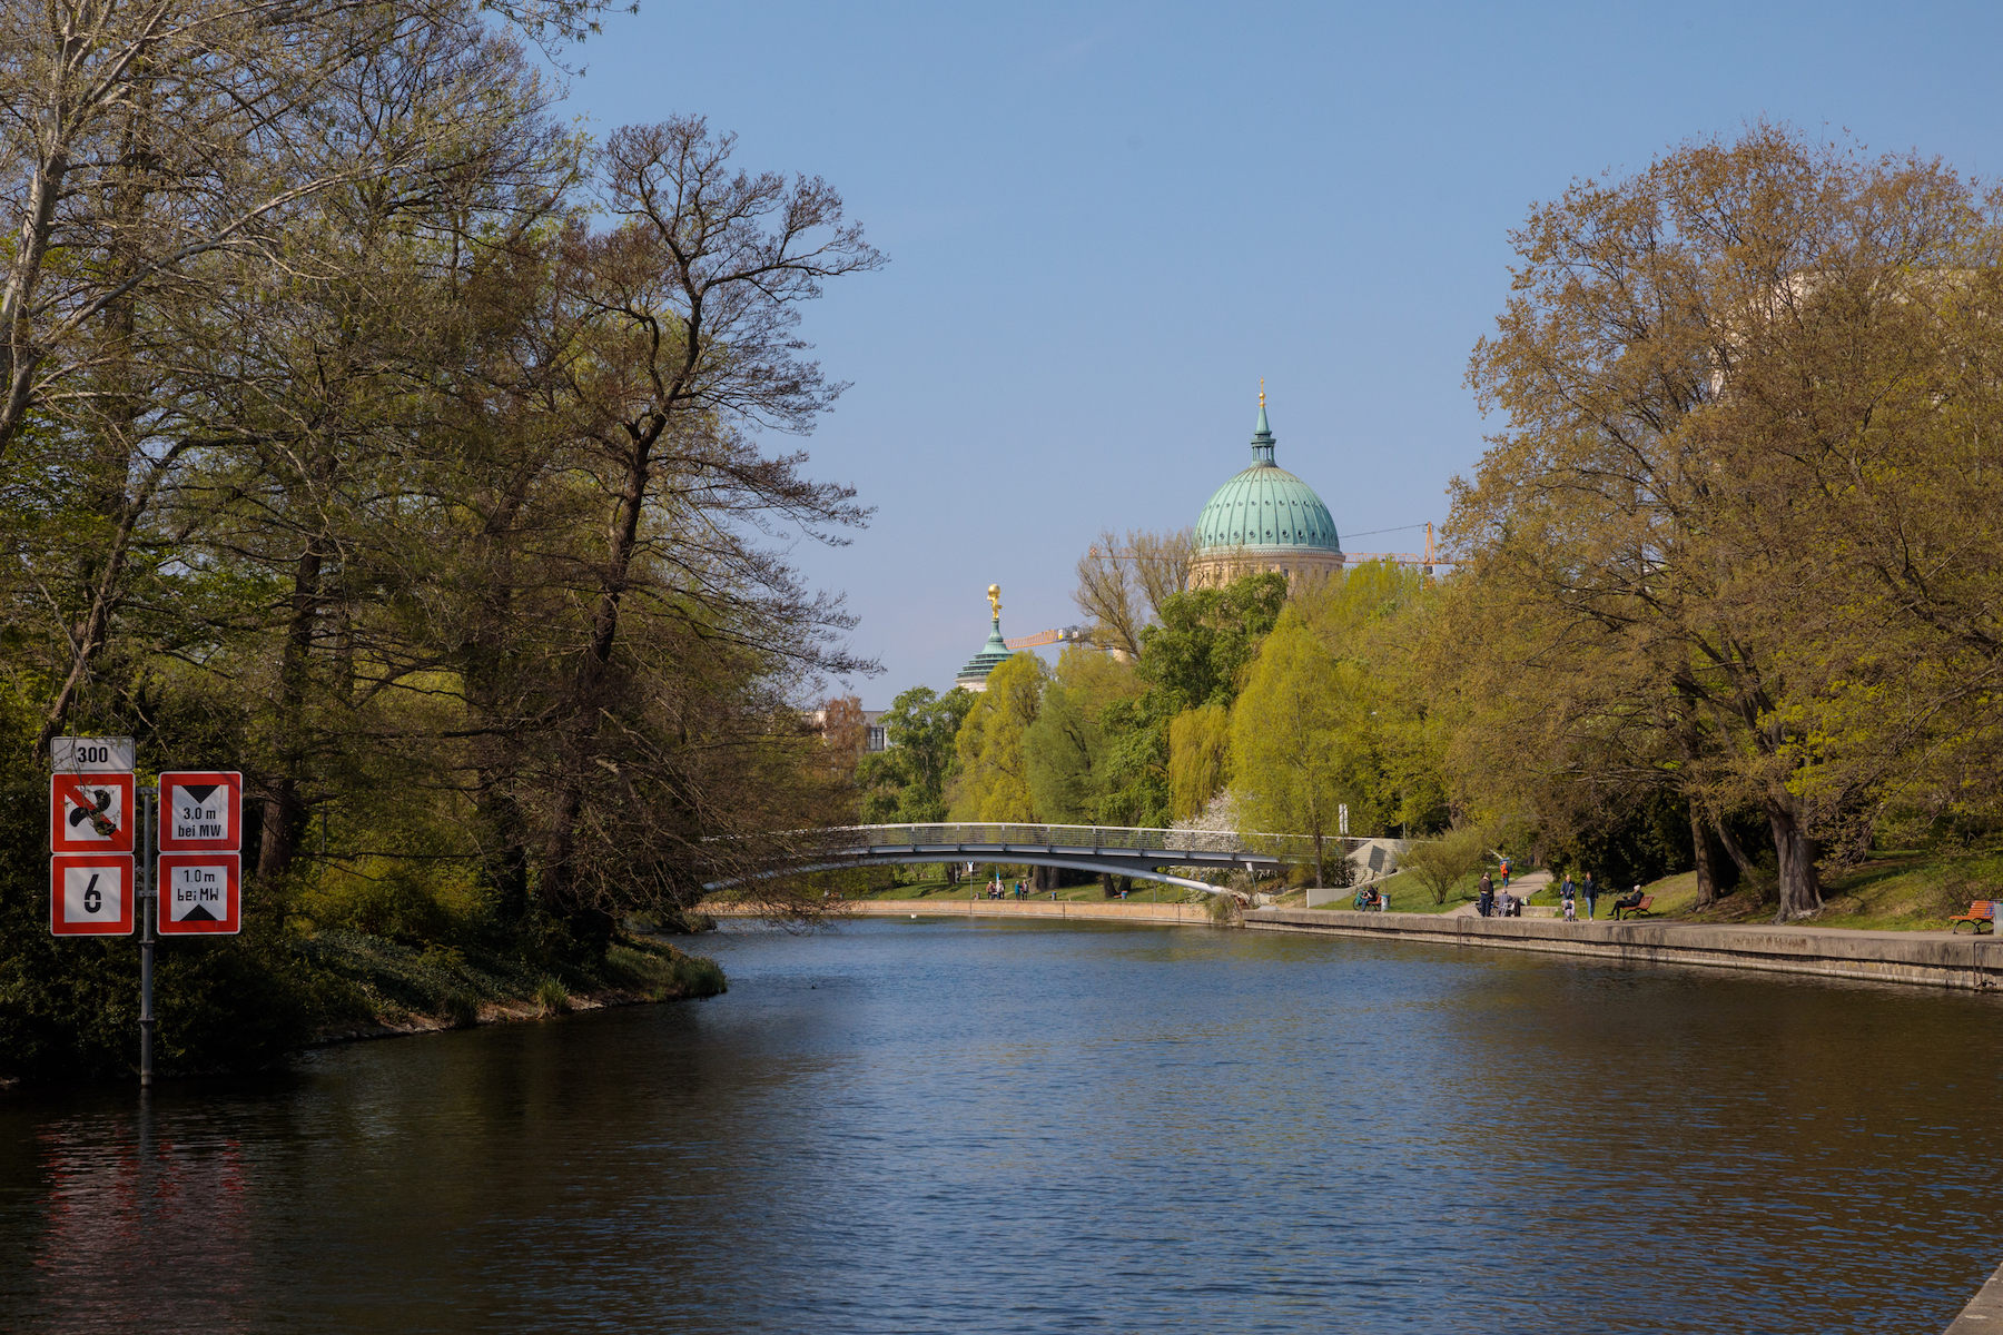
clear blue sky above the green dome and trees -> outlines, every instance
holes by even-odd
[[[807,310],[853,382],[805,442],[875,518],[793,556],[885,671],[1080,620],[1100,528],[1278,460],[1350,550],[1412,550],[1482,452],[1462,386],[1508,230],[1574,176],[1751,118],[1999,166],[2003,4],[669,4],[575,60],[595,128],[709,116],[889,256]],[[775,444],[785,446],[785,440]],[[831,683],[839,691],[839,683]]]

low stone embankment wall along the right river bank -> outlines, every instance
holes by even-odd
[[[1428,945],[1544,951],[1654,965],[1765,969],[1963,991],[2003,989],[2003,941],[1951,933],[1867,933],[1829,927],[1695,923],[1562,923],[1550,919],[1434,917],[1342,909],[1254,909],[1252,931],[1376,937]]]

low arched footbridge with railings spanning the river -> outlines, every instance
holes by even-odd
[[[1396,851],[1384,839],[1322,839],[1322,857],[1350,859],[1366,875],[1382,871]],[[913,863],[1004,863],[1112,873],[1196,891],[1224,887],[1196,881],[1192,871],[1280,871],[1314,861],[1310,835],[1238,835],[1232,831],[1158,831],[1112,825],[847,825],[815,831],[783,867],[759,877],[713,881],[721,891],[743,881]]]

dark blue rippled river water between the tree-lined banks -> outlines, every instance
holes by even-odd
[[[1212,929],[0,1093],[4,1331],[1941,1331],[1989,997]]]

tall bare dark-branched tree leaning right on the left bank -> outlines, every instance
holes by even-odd
[[[805,478],[803,454],[767,456],[745,432],[805,432],[833,404],[843,386],[801,356],[797,308],[823,280],[883,260],[831,186],[737,170],[733,144],[699,116],[617,130],[601,154],[615,226],[573,228],[563,250],[595,350],[573,380],[579,432],[609,508],[541,859],[545,903],[563,917],[591,899],[577,833],[631,598],[707,608],[749,652],[865,666],[827,648],[825,632],[849,624],[839,604],[745,540],[773,520],[837,540],[865,510],[849,488]]]

